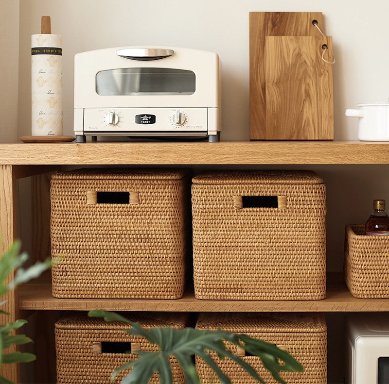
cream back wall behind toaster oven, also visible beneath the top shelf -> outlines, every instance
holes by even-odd
[[[248,140],[249,11],[318,11],[333,36],[336,139],[357,139],[356,119],[344,110],[389,96],[389,1],[373,0],[24,0],[20,4],[19,135],[31,132],[31,34],[52,17],[63,36],[64,133],[73,134],[76,52],[126,45],[211,50],[222,61],[224,140]],[[290,166],[289,168],[293,168]],[[296,167],[294,167],[296,168]],[[321,166],[328,190],[328,268],[341,270],[344,225],[364,222],[372,200],[389,201],[389,167]]]

